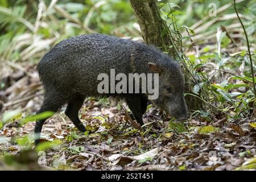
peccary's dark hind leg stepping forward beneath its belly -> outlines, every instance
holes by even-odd
[[[84,125],[82,125],[78,114],[79,110],[84,103],[84,97],[83,96],[75,96],[72,98],[71,101],[68,102],[67,109],[65,110],[65,114],[71,119],[71,121],[74,123],[74,125],[79,129],[82,133],[86,131]]]

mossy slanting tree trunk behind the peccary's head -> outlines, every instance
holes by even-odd
[[[141,27],[144,42],[155,45],[162,51],[167,52],[168,55],[174,58],[174,60],[181,61],[174,49],[174,46],[179,47],[180,44],[176,44],[175,38],[172,38],[170,28],[161,18],[158,1],[130,0],[130,3],[134,9],[139,26]],[[185,73],[185,93],[192,93],[192,85],[195,85],[195,82],[193,83],[188,70],[183,70]],[[203,102],[199,98],[187,95],[185,100],[187,102],[188,109],[203,109]]]

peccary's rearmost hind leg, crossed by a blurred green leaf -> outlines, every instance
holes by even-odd
[[[59,110],[60,107],[63,105],[63,102],[61,100],[62,100],[61,98],[59,100],[57,100],[56,97],[45,96],[43,104],[41,106],[41,109],[38,110],[36,112],[36,114],[43,113],[44,111],[53,111],[54,113],[56,113],[56,111]],[[34,130],[36,145],[39,143],[42,127],[43,127],[44,122],[46,122],[47,119],[48,118],[36,120],[35,130]]]

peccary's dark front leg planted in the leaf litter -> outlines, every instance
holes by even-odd
[[[134,118],[139,124],[144,125],[142,120],[142,108],[141,108],[141,94],[131,95],[126,98],[126,103],[129,106]]]

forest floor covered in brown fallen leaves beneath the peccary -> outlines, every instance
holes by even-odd
[[[35,66],[15,67],[16,72],[6,79],[7,88],[1,91],[1,100],[6,101],[1,104],[1,116],[6,110],[23,109],[0,130],[0,169],[256,168],[255,117],[228,121],[227,116],[216,115],[210,122],[200,117],[185,122],[163,121],[151,106],[143,116],[143,130],[139,131],[123,110],[128,109],[125,103],[110,106],[108,100],[93,98],[88,98],[80,110],[81,121],[90,133],[80,133],[63,108],[44,124],[42,138],[48,142],[41,150],[47,149],[37,153],[33,143],[35,122],[21,125],[20,121],[39,109],[42,86]],[[22,69],[26,75],[20,73]]]

